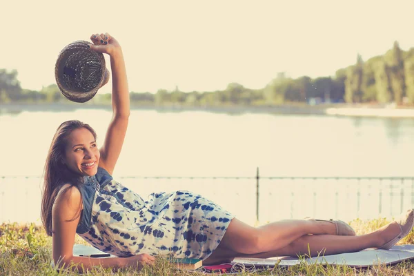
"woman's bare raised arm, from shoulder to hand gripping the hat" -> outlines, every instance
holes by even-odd
[[[95,44],[90,47],[92,50],[106,53],[110,56],[113,115],[106,132],[105,142],[100,149],[101,158],[99,166],[106,169],[112,175],[121,153],[128,127],[130,115],[128,79],[126,77],[124,55],[118,41],[111,37],[108,32],[106,34],[92,34],[90,39]]]

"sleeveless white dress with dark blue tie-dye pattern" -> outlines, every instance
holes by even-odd
[[[206,259],[234,217],[186,190],[152,193],[144,201],[100,167],[97,175],[83,181],[77,233],[95,248],[119,257],[148,253]]]

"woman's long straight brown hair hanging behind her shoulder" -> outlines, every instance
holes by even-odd
[[[77,128],[89,130],[96,141],[96,132],[88,124],[83,124],[77,120],[65,121],[57,128],[52,144],[50,144],[48,157],[46,158],[41,199],[41,221],[49,236],[52,235],[52,206],[55,203],[60,188],[64,184],[77,186],[81,180],[79,175],[71,172],[63,162],[65,159],[66,138]]]

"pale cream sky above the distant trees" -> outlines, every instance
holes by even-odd
[[[382,55],[394,41],[408,50],[413,8],[398,0],[1,1],[0,68],[41,90],[55,83],[61,49],[108,32],[123,49],[130,91],[257,89],[278,72],[335,75],[357,53]]]

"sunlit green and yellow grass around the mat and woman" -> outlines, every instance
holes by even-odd
[[[386,219],[362,221],[355,219],[351,226],[357,235],[363,235],[388,224]],[[86,244],[80,237],[77,244]],[[0,275],[77,275],[73,272],[58,273],[50,266],[51,238],[40,226],[2,224],[0,225]],[[414,244],[414,232],[402,239],[400,244]],[[268,268],[255,271],[254,268],[235,267],[239,275],[414,275],[414,264],[402,262],[395,266],[376,264],[371,268],[359,269],[348,266],[326,266],[322,264],[306,264],[282,268]],[[144,266],[141,270],[123,268],[118,271],[104,269],[99,266],[92,268],[86,275],[208,275],[190,271],[180,271],[169,264],[166,259],[157,258],[155,266]]]

